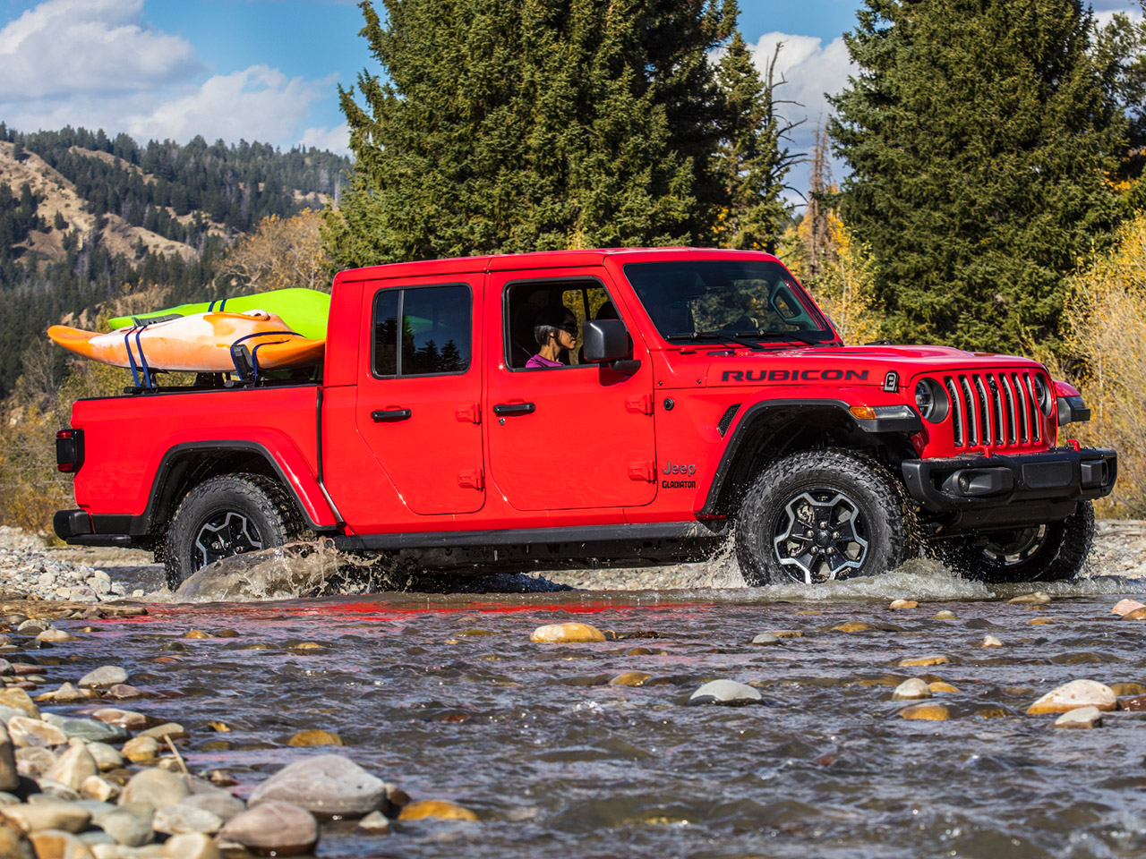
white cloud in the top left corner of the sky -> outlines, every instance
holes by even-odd
[[[198,71],[195,48],[141,24],[143,0],[47,0],[0,30],[0,98],[149,89]]]

